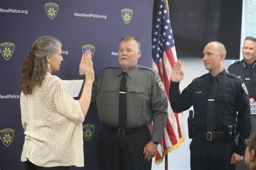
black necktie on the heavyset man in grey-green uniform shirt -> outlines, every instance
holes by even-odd
[[[125,129],[126,126],[126,72],[123,72],[119,90],[119,127]]]

